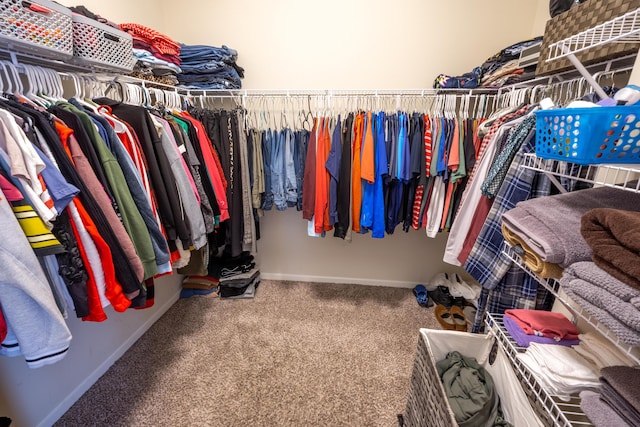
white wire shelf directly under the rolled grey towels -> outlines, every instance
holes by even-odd
[[[638,356],[639,349],[637,347],[631,346],[623,342],[618,336],[616,336],[609,329],[605,328],[600,324],[600,322],[592,316],[589,312],[584,310],[582,307],[575,303],[571,303],[559,293],[560,283],[553,279],[543,279],[536,275],[520,258],[520,255],[516,253],[516,251],[509,246],[506,242],[503,243],[503,254],[513,261],[516,265],[522,268],[527,272],[531,277],[533,277],[541,286],[544,286],[549,292],[553,294],[556,298],[556,301],[562,303],[563,306],[567,308],[574,316],[582,319],[587,322],[592,328],[594,328],[598,333],[600,333],[604,338],[609,340],[613,345],[615,345],[618,350],[624,353],[627,357],[633,360],[636,364],[640,365],[640,357]]]

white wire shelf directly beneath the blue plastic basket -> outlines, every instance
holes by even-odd
[[[525,154],[522,167],[545,173],[554,185],[560,189],[563,189],[564,186],[557,178],[615,187],[635,193],[640,192],[640,181],[638,181],[640,169],[637,167],[616,165],[580,166],[558,160],[542,159],[535,154]]]

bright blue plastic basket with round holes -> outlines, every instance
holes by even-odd
[[[640,163],[640,106],[537,111],[536,155],[581,165]]]

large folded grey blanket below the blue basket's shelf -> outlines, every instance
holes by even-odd
[[[591,260],[591,248],[580,234],[580,222],[587,211],[603,207],[640,211],[640,194],[598,187],[525,200],[505,212],[502,223],[540,259],[564,268]]]

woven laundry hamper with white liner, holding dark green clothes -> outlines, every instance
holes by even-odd
[[[514,426],[542,427],[507,355],[488,335],[420,329],[418,349],[411,375],[409,397],[403,414],[406,427],[455,427],[455,416],[438,376],[436,362],[451,351],[474,357],[491,375],[502,412]],[[490,357],[492,351],[495,359]]]

